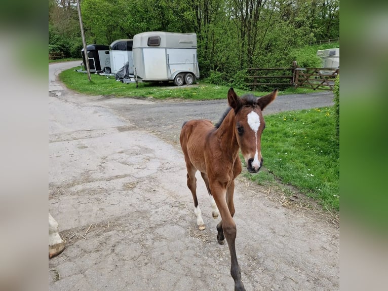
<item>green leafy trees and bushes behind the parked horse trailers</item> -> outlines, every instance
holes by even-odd
[[[79,57],[82,47],[74,1],[49,1],[49,49]],[[296,0],[83,0],[87,44],[109,45],[144,31],[196,32],[202,78],[240,83],[248,67],[317,66],[300,48],[339,36],[339,2]],[[240,74],[235,76],[236,74]],[[219,77],[219,76],[218,76]]]

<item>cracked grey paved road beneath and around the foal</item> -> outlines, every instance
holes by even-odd
[[[49,289],[231,290],[218,220],[199,179],[207,228],[196,229],[177,145],[183,121],[217,121],[226,100],[83,96],[56,79],[78,64],[49,65],[49,211],[66,239],[49,261]],[[279,96],[266,113],[330,105],[330,94]],[[338,290],[339,230],[274,197],[281,193],[237,180],[236,249],[247,290]]]

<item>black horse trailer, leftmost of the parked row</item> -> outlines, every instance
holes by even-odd
[[[88,45],[89,69],[91,72],[110,72],[109,46],[106,45]],[[86,68],[85,52],[81,50],[82,61]]]

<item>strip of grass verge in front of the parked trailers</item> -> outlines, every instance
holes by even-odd
[[[80,68],[80,67],[79,67]],[[199,86],[188,87],[173,87],[172,83],[168,85],[162,83],[138,83],[136,84],[123,84],[117,82],[114,77],[107,78],[106,76],[100,76],[96,74],[91,75],[92,81],[90,82],[87,74],[77,72],[71,68],[61,72],[59,74],[60,80],[70,89],[89,95],[104,95],[104,96],[116,96],[116,97],[152,97],[155,99],[166,98],[182,98],[192,100],[211,100],[211,99],[225,99],[227,91],[230,87],[218,86],[214,84],[207,84],[200,82]],[[235,89],[238,95],[246,93],[252,93],[250,91],[244,91]],[[279,92],[280,95],[294,94],[294,93],[309,93],[316,92],[311,89],[302,88],[288,88]],[[256,96],[265,95],[268,92],[253,92]]]

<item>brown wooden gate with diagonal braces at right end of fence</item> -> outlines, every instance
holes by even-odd
[[[313,90],[333,90],[339,68],[296,68],[294,86]]]

